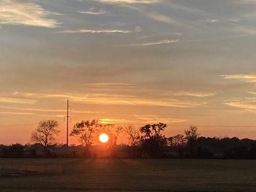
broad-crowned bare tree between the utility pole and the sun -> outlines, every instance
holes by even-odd
[[[90,154],[90,146],[93,144],[95,134],[98,132],[101,124],[98,120],[82,120],[74,124],[70,136],[77,137],[79,142],[85,145],[86,155]]]

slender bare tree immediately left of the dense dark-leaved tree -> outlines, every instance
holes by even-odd
[[[135,155],[135,146],[139,144],[140,132],[139,129],[135,129],[134,125],[130,124],[124,127],[124,132],[128,135],[129,145],[133,149],[133,156]]]

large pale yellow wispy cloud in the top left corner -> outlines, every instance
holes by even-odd
[[[48,14],[49,12],[33,2],[0,1],[0,24],[56,27],[59,23],[56,20],[47,19]]]

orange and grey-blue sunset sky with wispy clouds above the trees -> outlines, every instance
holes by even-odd
[[[0,143],[43,119],[256,139],[256,0],[0,0]],[[70,138],[71,143],[77,143]]]

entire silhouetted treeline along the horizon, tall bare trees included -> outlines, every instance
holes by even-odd
[[[58,122],[42,120],[31,143],[26,145],[0,145],[0,157],[133,157],[133,158],[227,158],[256,159],[256,141],[251,139],[199,137],[195,126],[184,130],[184,134],[166,137],[164,123],[146,124],[138,129],[134,125],[124,127],[101,124],[98,120],[83,120],[74,125],[70,136],[78,138],[79,145],[67,147],[56,144],[59,133]],[[95,144],[99,134],[106,133],[106,144]],[[128,143],[117,144],[120,134]],[[120,142],[119,142],[120,143]]]

